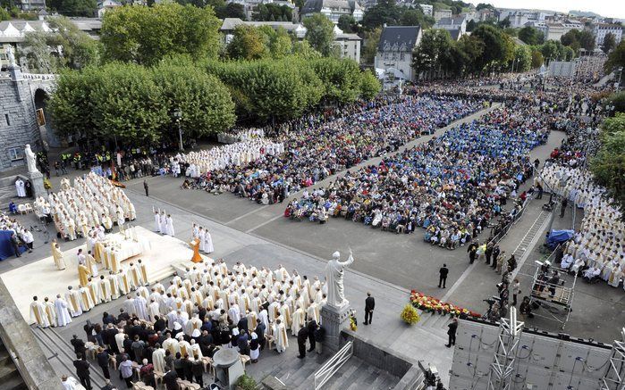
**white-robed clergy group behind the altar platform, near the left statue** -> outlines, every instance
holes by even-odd
[[[125,220],[137,218],[134,205],[122,189],[93,172],[84,178],[74,178],[74,187],[68,178],[62,178],[61,191],[48,195],[47,200],[39,196],[34,208],[43,215],[51,215],[56,231],[70,240],[87,237],[92,227],[102,225],[110,231],[114,222],[122,227]]]

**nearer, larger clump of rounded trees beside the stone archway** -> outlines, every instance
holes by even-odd
[[[177,134],[175,110],[182,112],[188,137],[228,129],[235,120],[227,87],[190,62],[164,61],[154,68],[112,62],[65,71],[48,104],[62,137],[157,142]]]

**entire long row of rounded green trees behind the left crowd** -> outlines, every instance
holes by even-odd
[[[290,120],[321,103],[345,104],[380,91],[370,72],[334,58],[193,62],[171,57],[153,67],[110,62],[65,71],[49,110],[62,137],[155,142],[175,137],[182,112],[187,137],[229,129],[241,120]]]

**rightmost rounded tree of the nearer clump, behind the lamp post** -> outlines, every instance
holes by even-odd
[[[164,134],[174,128],[173,112],[180,110],[185,137],[202,137],[229,129],[236,119],[228,88],[195,66],[180,66],[176,59],[162,62],[152,70],[162,92],[162,104],[169,122]],[[170,133],[171,134],[171,133]]]

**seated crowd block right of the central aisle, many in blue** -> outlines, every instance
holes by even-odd
[[[549,130],[529,110],[520,104],[495,110],[378,165],[348,171],[328,187],[305,191],[285,216],[342,217],[396,233],[422,227],[431,244],[463,245],[520,196],[517,189],[532,175],[528,152],[545,143]]]

